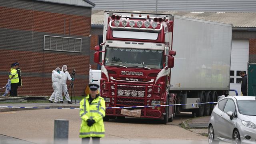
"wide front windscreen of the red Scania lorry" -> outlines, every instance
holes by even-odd
[[[105,65],[162,69],[163,54],[163,50],[107,47]]]

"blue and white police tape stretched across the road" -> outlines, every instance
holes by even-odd
[[[197,104],[216,104],[218,102],[202,102],[194,104],[166,104],[166,105],[152,105],[152,106],[120,106],[120,107],[107,107],[106,109],[113,108],[149,108],[149,107],[162,107],[162,106],[182,106],[182,105],[192,105],[195,107]],[[30,108],[30,109],[79,109],[79,108],[50,108],[50,107],[22,107],[22,106],[0,106],[0,108]]]

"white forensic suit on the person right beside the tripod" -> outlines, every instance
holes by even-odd
[[[68,91],[68,87],[67,87],[67,84],[66,84],[67,83],[67,79],[71,80],[72,78],[71,78],[70,74],[68,73],[68,71],[64,72],[63,70],[61,70],[60,74],[62,76],[62,78],[60,79],[60,89],[61,89],[60,92],[61,92],[61,97],[62,97],[62,91],[64,92],[64,96],[65,96],[66,92]],[[66,95],[65,98],[69,102],[71,101],[68,92],[67,92],[67,95]]]

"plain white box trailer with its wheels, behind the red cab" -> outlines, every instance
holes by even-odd
[[[178,103],[214,102],[229,93],[231,40],[232,24],[174,16],[172,50],[176,56],[170,91],[177,94]],[[213,104],[200,107],[201,111],[199,105],[186,105],[176,112],[208,115]]]

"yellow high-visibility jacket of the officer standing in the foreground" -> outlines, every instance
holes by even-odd
[[[92,103],[89,104],[89,95],[86,96],[80,102],[80,117],[82,124],[80,128],[80,138],[86,137],[104,137],[105,128],[103,124],[103,118],[105,116],[106,106],[102,97],[98,96]],[[95,123],[92,126],[88,126],[86,120],[94,119]]]

